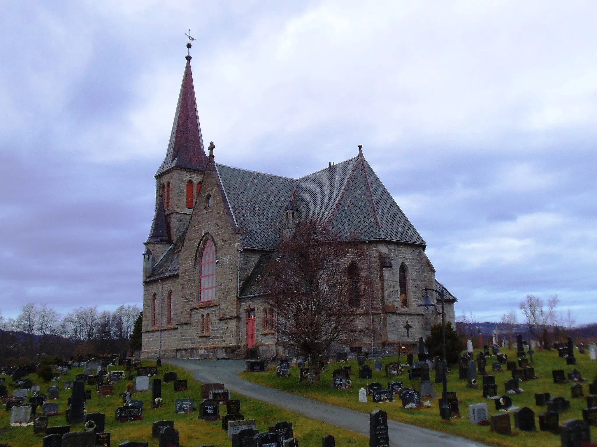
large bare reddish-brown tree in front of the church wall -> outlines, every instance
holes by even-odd
[[[283,342],[309,356],[308,383],[316,381],[319,357],[333,343],[348,343],[370,285],[362,244],[341,240],[319,221],[297,226],[270,256],[264,302],[276,309]]]

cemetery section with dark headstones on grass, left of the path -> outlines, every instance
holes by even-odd
[[[296,445],[319,446],[327,434],[342,446],[364,447],[368,442],[360,434],[230,393],[223,384],[201,384],[165,362],[159,368],[155,361],[140,361],[134,368],[87,363],[93,373],[97,368],[107,371],[83,375],[84,364],[71,365],[49,382],[33,371],[0,375],[0,445],[241,447],[253,445],[254,435],[270,429],[284,446],[291,445],[293,437]],[[159,405],[156,399],[161,399]]]

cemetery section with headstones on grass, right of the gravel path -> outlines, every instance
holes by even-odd
[[[581,430],[583,420],[589,422],[587,433],[595,443],[597,361],[586,350],[565,349],[562,356],[564,350],[531,349],[529,353],[526,347],[524,357],[517,356],[522,350],[516,349],[516,342],[514,349],[475,349],[470,355],[464,350],[459,364],[448,365],[450,421],[439,413],[441,362],[417,360],[417,353],[366,361],[338,355],[329,362],[327,371],[319,373],[319,383],[310,386],[298,377],[296,364],[289,368],[287,377],[276,375],[278,365],[270,362],[267,371],[244,371],[241,378],[356,411],[381,410],[388,420],[487,445],[572,445],[562,440],[568,433],[564,429]],[[335,386],[337,378],[344,377],[340,371],[349,368],[352,373],[346,379],[350,386]],[[389,390],[393,390],[393,399],[388,398]],[[580,422],[568,422],[573,420]]]

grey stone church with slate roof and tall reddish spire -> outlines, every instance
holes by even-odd
[[[187,45],[190,48],[190,44]],[[446,320],[456,298],[435,279],[426,244],[359,145],[356,156],[298,179],[215,162],[204,145],[186,56],[164,162],[155,173],[155,216],[143,253],[143,339],[150,358],[262,358],[288,354],[276,309],[259,288],[263,259],[301,219],[328,222],[366,247],[367,302],[351,303],[367,335],[340,350],[396,352],[441,322],[441,305],[418,306],[424,288],[444,290]],[[332,353],[331,353],[332,354]]]

